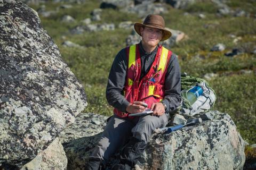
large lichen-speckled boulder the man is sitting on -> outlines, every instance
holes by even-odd
[[[212,120],[170,134],[155,133],[135,169],[242,169],[245,142],[228,114],[208,112]],[[63,145],[67,169],[83,169],[101,134]],[[118,153],[106,169],[117,162]]]

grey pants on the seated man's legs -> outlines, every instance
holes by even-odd
[[[108,159],[129,141],[129,137],[148,142],[150,135],[156,128],[164,128],[168,115],[140,116],[134,119],[112,116],[108,121],[102,137],[95,146],[90,158],[107,162]]]

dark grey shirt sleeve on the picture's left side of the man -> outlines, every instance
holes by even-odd
[[[106,98],[109,105],[117,108],[121,112],[126,112],[126,107],[130,104],[123,96],[127,70],[127,59],[125,48],[115,57],[111,66],[108,84],[106,88]]]

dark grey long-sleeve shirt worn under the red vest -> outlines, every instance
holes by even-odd
[[[141,43],[139,47],[142,68],[140,76],[141,79],[147,74],[151,65],[153,64],[158,47],[156,47],[151,53],[146,53]],[[106,98],[109,105],[117,108],[121,112],[126,112],[126,107],[130,104],[129,101],[127,101],[123,96],[123,88],[126,81],[127,62],[126,50],[123,48],[116,55],[111,66],[106,89]],[[180,67],[177,56],[172,53],[165,75],[165,96],[163,101],[167,106],[166,112],[174,111],[178,106],[180,106],[182,100],[180,89]]]

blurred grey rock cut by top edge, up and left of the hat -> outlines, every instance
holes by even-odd
[[[100,4],[100,8],[124,8],[124,7],[133,7],[134,1],[133,0],[103,0]]]

